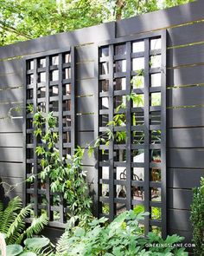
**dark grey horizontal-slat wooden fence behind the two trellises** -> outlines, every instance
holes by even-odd
[[[0,176],[19,183],[10,196],[22,196],[22,119],[10,120],[10,108],[23,102],[23,56],[52,49],[75,50],[76,143],[83,146],[94,137],[98,65],[96,45],[122,36],[167,30],[167,231],[191,240],[189,221],[192,187],[204,174],[204,2],[195,1],[169,10],[132,17],[117,23],[45,36],[0,49]],[[12,115],[22,115],[12,111]],[[95,160],[85,157],[90,187]]]

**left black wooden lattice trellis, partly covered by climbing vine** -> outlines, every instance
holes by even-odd
[[[31,104],[45,116],[54,112],[57,118],[55,132],[59,136],[57,147],[61,157],[73,154],[74,150],[74,56],[73,49],[53,50],[41,55],[26,58],[25,107]],[[46,129],[46,128],[45,128]],[[41,171],[40,159],[35,148],[41,141],[34,136],[33,115],[26,114],[25,125],[25,165],[26,174]],[[47,211],[50,225],[63,226],[66,222],[67,208],[58,194],[52,194],[49,181],[41,183],[35,179],[26,187],[26,203],[32,203],[35,215]],[[55,223],[55,221],[57,221]]]

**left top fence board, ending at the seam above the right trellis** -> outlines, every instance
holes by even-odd
[[[32,55],[51,49],[62,49],[66,48],[67,45],[76,46],[85,43],[100,42],[114,36],[115,23],[100,24],[69,33],[65,32],[53,36],[43,36],[34,40],[4,46],[0,51],[0,59]]]

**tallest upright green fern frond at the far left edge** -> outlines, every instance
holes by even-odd
[[[22,208],[22,200],[16,196],[14,199],[10,200],[8,207],[3,211],[3,217],[0,225],[0,232],[7,233],[10,225],[15,221],[17,216],[16,211]]]

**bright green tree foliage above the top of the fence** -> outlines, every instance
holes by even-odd
[[[121,0],[122,1],[122,0]],[[194,0],[1,0],[0,45],[54,35]],[[119,9],[119,10],[118,10]]]

